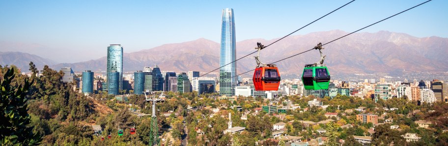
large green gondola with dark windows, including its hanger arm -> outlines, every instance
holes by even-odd
[[[322,56],[322,44],[317,44],[314,49],[319,49],[320,61],[319,64],[305,65],[304,72],[302,74],[302,81],[306,90],[321,90],[328,89],[330,84],[330,72],[327,67],[323,65],[325,56]]]

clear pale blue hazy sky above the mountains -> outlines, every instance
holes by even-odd
[[[58,63],[206,38],[220,42],[221,15],[233,8],[236,40],[282,37],[350,0],[0,0],[0,51]],[[426,0],[356,0],[294,35],[351,32]],[[448,0],[432,0],[362,32],[448,37]],[[324,42],[323,42],[324,43]]]

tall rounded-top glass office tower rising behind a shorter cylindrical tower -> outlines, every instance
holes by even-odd
[[[111,45],[108,47],[107,73],[109,74],[113,71],[116,71],[119,74],[118,90],[121,90],[123,89],[123,47],[121,47],[121,45]],[[109,83],[111,79],[112,78],[108,75],[107,82]]]

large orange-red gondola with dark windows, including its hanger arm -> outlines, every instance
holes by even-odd
[[[256,91],[277,91],[280,86],[280,73],[279,69],[275,64],[263,64],[259,60],[260,50],[264,48],[261,43],[257,43],[258,53],[255,57],[255,61],[257,63],[257,67],[253,72],[253,85],[255,86]]]

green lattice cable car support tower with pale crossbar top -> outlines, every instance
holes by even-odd
[[[152,117],[151,117],[151,130],[149,131],[149,134],[151,135],[151,138],[149,140],[149,145],[151,146],[160,146],[159,142],[159,126],[157,124],[157,117],[156,117],[156,102],[163,102],[165,101],[165,96],[163,95],[163,91],[153,91],[149,92],[146,90],[146,92],[143,92],[145,95],[145,101],[151,102],[152,101]]]

